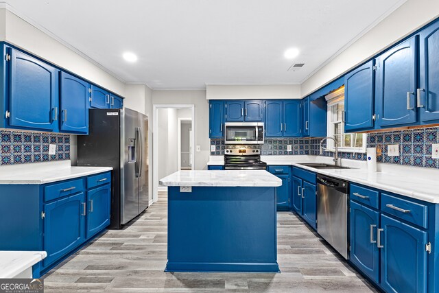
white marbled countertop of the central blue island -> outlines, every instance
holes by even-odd
[[[265,170],[178,171],[162,178],[163,186],[277,187],[282,180]]]

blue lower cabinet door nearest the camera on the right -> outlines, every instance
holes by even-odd
[[[427,232],[381,214],[381,288],[427,292]]]

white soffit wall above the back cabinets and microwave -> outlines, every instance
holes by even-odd
[[[211,85],[206,86],[207,99],[300,99],[300,85]]]

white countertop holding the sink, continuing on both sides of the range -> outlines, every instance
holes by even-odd
[[[208,165],[223,165],[220,157],[212,158]],[[292,165],[319,174],[375,187],[401,196],[416,198],[426,202],[439,203],[439,170],[409,167],[394,164],[378,164],[378,172],[369,173],[364,161],[342,160],[342,165],[355,169],[316,169],[300,163],[333,163],[331,157],[324,156],[261,156],[268,165]],[[210,164],[213,162],[213,164]]]

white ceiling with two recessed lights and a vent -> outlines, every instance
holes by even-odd
[[[8,0],[126,82],[153,89],[295,84],[405,1]],[[285,49],[300,55],[286,60]],[[128,63],[124,51],[139,60]],[[299,71],[287,71],[305,62]]]

